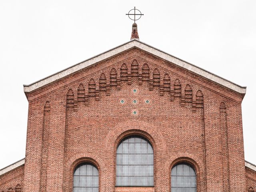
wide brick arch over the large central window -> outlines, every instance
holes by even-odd
[[[104,144],[105,150],[113,150],[116,146],[116,141],[118,140],[118,138],[120,138],[120,136],[122,136],[122,134],[124,134],[125,132],[131,131],[133,131],[134,133],[145,132],[145,136],[146,134],[148,134],[149,137],[152,138],[148,139],[158,149],[158,151],[166,150],[166,143],[164,141],[164,137],[162,136],[162,134],[152,125],[138,120],[123,122],[114,127],[106,136]]]

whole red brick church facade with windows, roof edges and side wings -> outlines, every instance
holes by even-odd
[[[26,157],[0,192],[254,192],[246,88],[138,39],[24,86]]]

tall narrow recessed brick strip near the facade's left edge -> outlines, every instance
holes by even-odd
[[[44,106],[44,121],[43,121],[43,135],[42,135],[40,192],[46,192],[49,129],[50,129],[50,102],[46,101],[46,104]]]

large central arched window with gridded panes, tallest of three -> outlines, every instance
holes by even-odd
[[[154,152],[147,139],[129,136],[118,145],[116,186],[154,186]]]

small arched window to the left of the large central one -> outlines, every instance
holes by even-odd
[[[76,167],[74,171],[73,192],[98,192],[99,172],[90,163],[83,163]]]

